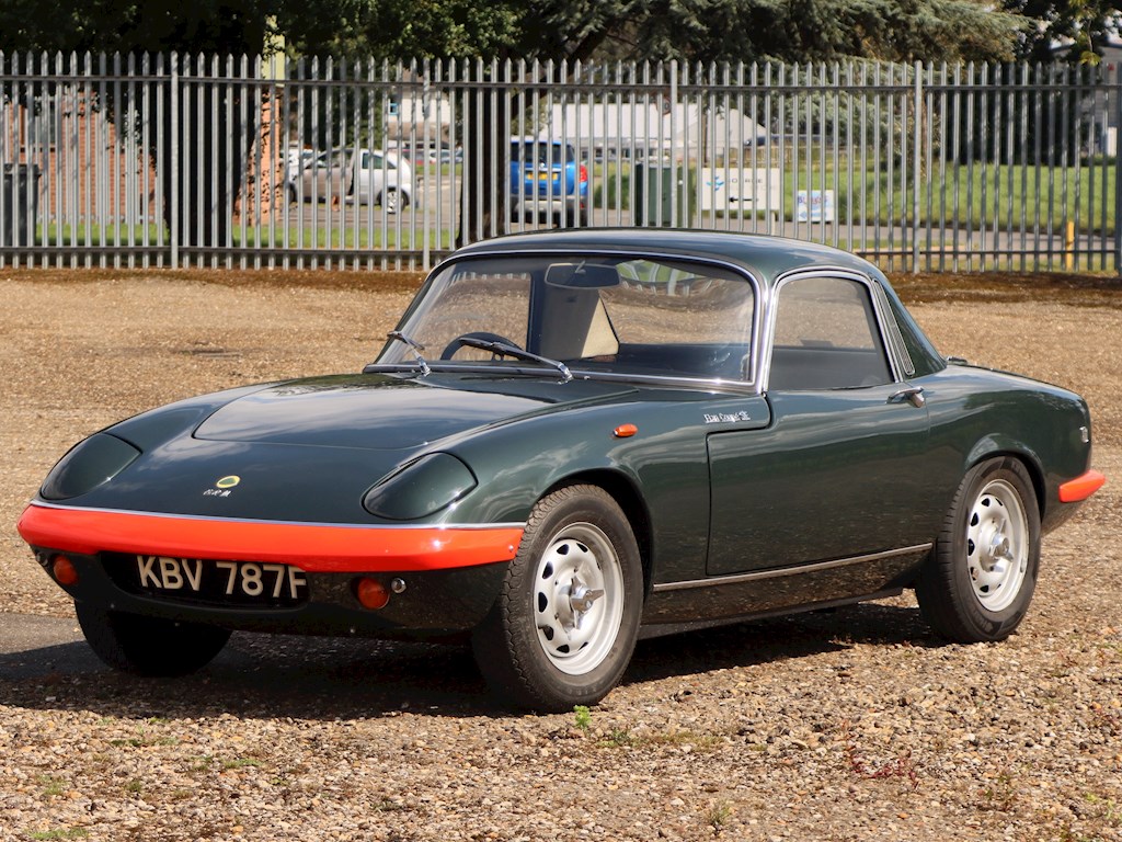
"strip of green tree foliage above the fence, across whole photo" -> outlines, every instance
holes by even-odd
[[[0,49],[263,52],[388,60],[1093,61],[1122,0],[20,0]]]

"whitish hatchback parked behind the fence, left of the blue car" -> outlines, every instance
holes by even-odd
[[[380,204],[396,213],[413,201],[413,167],[407,161],[380,149],[339,149],[305,153],[287,171],[291,202],[355,202]],[[295,172],[294,172],[295,171]]]

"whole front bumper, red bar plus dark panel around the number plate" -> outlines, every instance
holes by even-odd
[[[228,629],[305,634],[433,638],[477,625],[498,595],[522,528],[394,528],[176,518],[33,503],[19,522],[40,566],[74,600],[111,611]],[[65,556],[76,574],[58,582]],[[303,571],[295,605],[226,605],[128,584],[136,556],[286,565]],[[390,594],[377,610],[358,598],[374,579]]]

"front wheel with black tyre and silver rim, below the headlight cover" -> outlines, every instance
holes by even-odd
[[[472,633],[479,669],[518,706],[594,705],[627,668],[642,595],[638,546],[619,505],[597,486],[560,488],[534,506],[503,589]]]

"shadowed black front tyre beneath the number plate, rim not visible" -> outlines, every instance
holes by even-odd
[[[74,603],[79,625],[107,665],[138,676],[185,676],[206,666],[230,639],[228,629],[105,611]]]

